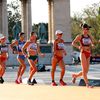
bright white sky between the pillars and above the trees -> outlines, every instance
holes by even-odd
[[[12,0],[7,0],[11,2]],[[32,23],[48,22],[48,2],[47,0],[31,0],[32,1]],[[99,3],[100,0],[70,0],[71,16],[74,13],[81,13],[87,6]]]

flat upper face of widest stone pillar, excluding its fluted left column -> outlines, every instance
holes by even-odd
[[[54,0],[54,32],[60,29],[64,32],[65,42],[71,42],[70,0]]]

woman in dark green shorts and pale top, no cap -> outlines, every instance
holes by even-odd
[[[36,64],[38,54],[44,57],[44,54],[40,52],[40,48],[37,43],[37,35],[35,32],[30,33],[30,39],[25,43],[22,51],[23,54],[28,58],[28,62],[30,64],[30,73],[27,83],[29,85],[34,85],[34,79],[32,80],[32,77],[37,71]],[[25,51],[27,51],[27,53]]]

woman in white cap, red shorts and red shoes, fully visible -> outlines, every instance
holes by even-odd
[[[65,46],[64,46],[64,40],[62,39],[62,35],[63,32],[60,30],[57,30],[55,32],[56,34],[56,40],[54,41],[54,54],[52,57],[52,70],[51,70],[51,78],[52,78],[52,86],[57,86],[57,83],[55,82],[54,79],[54,74],[55,74],[55,70],[56,70],[56,65],[58,63],[58,65],[61,68],[61,75],[60,75],[60,85],[65,86],[67,85],[64,81],[63,81],[63,76],[65,74],[65,64],[63,61],[63,56],[66,55],[66,51],[65,51]]]

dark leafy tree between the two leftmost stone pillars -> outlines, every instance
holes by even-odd
[[[8,36],[11,42],[14,38],[13,27],[16,23],[21,27],[21,14],[18,0],[12,1],[7,5],[8,9]]]

